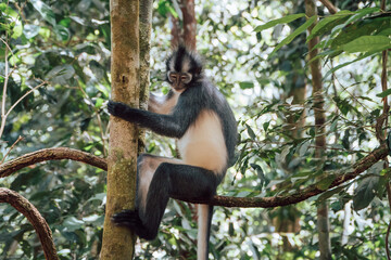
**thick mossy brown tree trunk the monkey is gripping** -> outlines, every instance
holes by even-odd
[[[139,1],[111,0],[112,100],[139,107]],[[101,259],[131,259],[136,236],[111,217],[135,207],[138,130],[110,117],[108,199]]]

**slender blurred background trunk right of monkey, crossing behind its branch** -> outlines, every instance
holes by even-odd
[[[317,10],[314,0],[305,0],[305,14],[307,17],[317,15]],[[316,25],[314,23],[310,28],[310,32],[313,27]],[[311,61],[318,54],[318,49],[314,47],[319,42],[319,38],[315,37],[308,42],[310,55],[308,60]],[[319,167],[324,166],[324,153],[326,146],[326,135],[325,135],[325,121],[326,115],[324,110],[324,96],[323,96],[323,86],[321,86],[321,72],[319,60],[313,61],[310,64],[312,83],[313,83],[313,99],[314,99],[314,114],[315,114],[315,157],[319,160]],[[321,169],[320,169],[321,170]],[[331,259],[331,244],[329,237],[329,219],[328,219],[328,203],[325,200],[320,203],[317,207],[317,227],[319,235],[319,250],[320,259]]]

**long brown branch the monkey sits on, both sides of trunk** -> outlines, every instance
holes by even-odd
[[[350,181],[356,178],[360,173],[364,172],[370,168],[374,164],[387,157],[389,147],[386,143],[381,144],[380,147],[374,150],[367,156],[355,162],[349,169],[342,169],[337,172],[325,173],[327,178],[330,174],[335,176],[333,182],[327,190],[320,190],[316,184],[310,185],[306,188],[298,191],[297,193],[285,195],[285,196],[274,196],[274,197],[228,197],[228,196],[214,196],[212,199],[188,199],[181,197],[174,197],[188,203],[195,204],[210,204],[214,206],[223,207],[241,207],[241,208],[274,208],[279,206],[287,206],[291,204],[297,204],[303,202],[310,197],[319,195],[326,191],[331,190],[346,181]],[[103,158],[90,155],[85,152],[77,150],[59,147],[59,148],[47,148],[40,150],[30,154],[26,154],[18,158],[7,161],[3,165],[0,165],[0,178],[12,174],[13,172],[34,165],[36,162],[41,162],[45,160],[51,159],[73,159],[89,164],[91,166],[98,167],[102,170],[106,170],[106,161]],[[321,179],[319,180],[321,182]]]

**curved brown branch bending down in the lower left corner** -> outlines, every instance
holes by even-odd
[[[18,193],[4,187],[0,187],[0,203],[10,204],[27,218],[38,234],[46,259],[59,259],[49,225],[33,204]]]

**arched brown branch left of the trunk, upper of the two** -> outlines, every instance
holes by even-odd
[[[35,165],[37,162],[60,159],[83,161],[102,170],[108,170],[106,161],[103,158],[78,150],[58,147],[39,150],[37,152],[25,154],[15,159],[5,161],[4,164],[0,165],[0,178],[8,177],[20,169]]]

